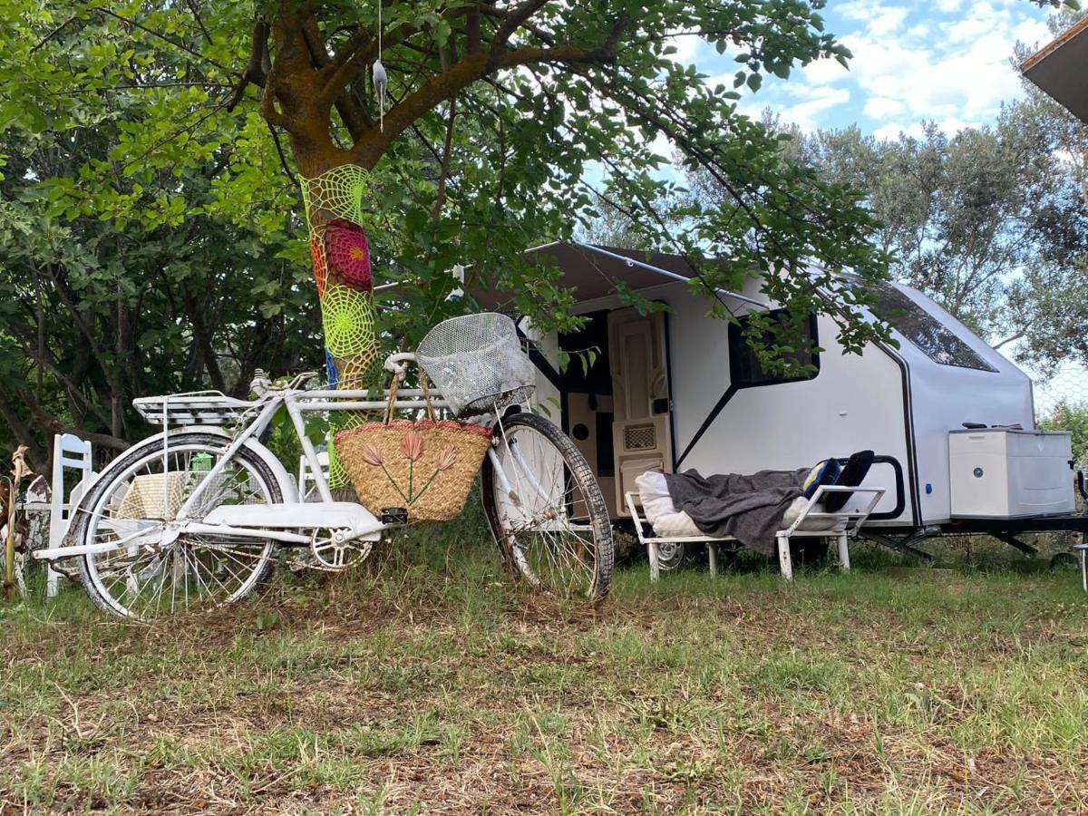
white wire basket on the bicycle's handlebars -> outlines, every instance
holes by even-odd
[[[520,405],[535,387],[533,363],[505,314],[444,320],[419,344],[416,356],[457,417]]]

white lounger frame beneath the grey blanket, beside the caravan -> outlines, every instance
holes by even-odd
[[[838,512],[827,512],[820,509],[820,503],[828,493],[854,493],[867,494],[868,504],[862,509],[848,509],[843,507]],[[857,534],[858,529],[873,512],[873,509],[880,502],[885,494],[883,487],[846,487],[837,485],[820,485],[808,504],[798,516],[798,519],[783,530],[775,533],[776,546],[778,549],[778,565],[782,570],[782,577],[787,581],[793,580],[793,559],[790,556],[790,539],[836,539],[839,544],[839,567],[843,572],[850,571],[850,548],[849,539]],[[650,557],[650,580],[657,581],[662,574],[660,560],[658,557],[658,546],[660,544],[706,544],[707,556],[710,561],[710,573],[718,573],[718,544],[721,542],[735,542],[732,536],[714,537],[710,535],[677,535],[657,536],[654,535],[650,522],[642,518],[639,510],[642,507],[639,494],[629,492],[625,494],[627,509],[634,520],[634,534],[639,537],[639,543],[646,547]],[[829,522],[831,529],[802,530],[801,526],[806,519],[824,519]],[[645,529],[643,526],[645,524]],[[838,529],[836,529],[838,528]],[[650,532],[645,532],[648,529]]]

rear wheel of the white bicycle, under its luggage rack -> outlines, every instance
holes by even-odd
[[[200,519],[222,505],[279,504],[268,465],[242,447],[209,477],[230,445],[224,436],[181,433],[122,456],[79,503],[76,544],[124,543],[79,559],[84,589],[106,611],[128,620],[211,609],[244,598],[271,570],[269,539],[178,534],[175,516],[197,485],[213,479],[191,508]]]

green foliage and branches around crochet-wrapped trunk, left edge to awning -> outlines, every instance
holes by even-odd
[[[467,308],[447,299],[455,264],[543,327],[572,326],[571,293],[521,252],[608,206],[689,256],[716,314],[716,287],[770,273],[796,313],[837,296],[840,339],[860,348],[882,329],[833,272],[886,274],[875,219],[737,109],[766,75],[849,60],[821,5],[412,0],[384,2],[379,26],[355,0],[8,0],[5,424],[39,450],[66,425],[123,444],[138,393],[320,364],[295,176],[344,163],[369,172],[378,283],[407,284],[379,310],[391,345]],[[676,61],[687,37],[731,55],[732,82]],[[666,220],[673,149],[727,195]]]

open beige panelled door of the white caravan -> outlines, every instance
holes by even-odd
[[[608,313],[608,357],[613,379],[613,446],[616,509],[628,516],[623,494],[638,490],[646,470],[672,470],[668,356],[665,314],[634,309]]]

